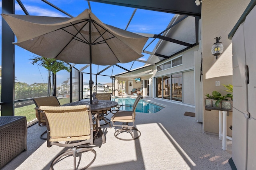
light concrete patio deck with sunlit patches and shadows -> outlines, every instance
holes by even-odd
[[[231,170],[232,141],[228,150],[222,150],[222,141],[216,135],[203,132],[195,117],[184,116],[193,107],[147,98],[166,107],[157,113],[136,113],[136,127],[141,137],[135,141],[121,141],[114,137],[115,128],[102,126],[106,143],[95,141],[97,156],[90,170]],[[112,114],[109,114],[110,118]],[[28,127],[28,150],[22,152],[2,170],[49,170],[52,159],[65,150],[46,147],[40,134],[46,127],[37,124]],[[128,135],[128,134],[127,134]],[[82,154],[85,158],[89,153]],[[84,156],[84,157],[83,157]],[[90,157],[90,156],[89,156]],[[72,169],[73,158],[66,158],[56,169]],[[78,158],[77,158],[78,159]],[[81,166],[83,165],[81,161]],[[85,166],[85,165],[84,165]]]

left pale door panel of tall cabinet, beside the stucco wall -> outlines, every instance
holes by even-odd
[[[244,116],[247,107],[246,53],[244,46],[244,26],[238,27],[232,38],[233,53],[233,129],[232,159],[238,170],[247,166],[247,127],[248,119]]]

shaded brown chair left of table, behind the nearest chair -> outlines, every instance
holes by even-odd
[[[60,106],[59,100],[56,98],[56,96],[50,96],[50,97],[40,97],[40,98],[33,98],[34,104],[36,105],[35,110],[36,110],[36,118],[38,119],[38,125],[39,126],[45,126],[45,119],[43,115],[38,111],[37,107],[39,106]],[[40,135],[40,139],[46,140],[43,135],[46,134],[46,131],[44,131]]]

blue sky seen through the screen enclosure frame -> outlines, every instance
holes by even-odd
[[[68,14],[74,17],[76,17],[81,12],[83,12],[85,9],[89,8],[88,2],[85,0],[67,0],[67,1],[48,0],[48,2],[54,4],[55,6],[58,6],[58,8],[64,10],[65,12],[67,12]],[[30,15],[68,17],[65,14],[59,12],[58,10],[52,8],[48,4],[45,4],[41,0],[22,0],[22,3]],[[2,1],[1,1],[1,5],[2,5]],[[103,23],[106,23],[108,25],[113,25],[121,29],[126,28],[128,21],[130,20],[130,17],[134,11],[134,8],[108,5],[108,4],[102,4],[97,2],[90,2],[90,6],[92,9],[92,12]],[[16,2],[15,13],[24,15],[24,12],[22,11],[22,9],[20,8],[17,2]],[[173,14],[168,14],[168,13],[137,9],[134,15],[134,18],[132,19],[132,21],[130,22],[130,25],[127,28],[127,31],[158,34],[162,32],[164,29],[166,29],[168,23],[170,22],[173,16],[174,16]],[[1,30],[2,30],[2,27],[1,27]],[[2,38],[2,31],[0,36]],[[150,39],[148,43],[151,41],[152,39]],[[0,43],[2,43],[2,41],[0,41]],[[146,49],[146,51],[152,51],[156,43],[157,43],[157,40],[155,40],[154,43],[152,43],[152,45],[150,45],[150,47]],[[0,48],[2,48],[2,44]],[[145,53],[142,53],[142,54],[144,55],[144,57],[140,58],[140,60],[147,60],[149,55]],[[26,82],[28,84],[32,84],[34,82],[46,83],[47,75],[48,75],[47,71],[44,68],[40,68],[37,65],[31,64],[31,60],[29,59],[33,58],[33,55],[35,54],[32,54],[29,51],[26,51],[18,46],[15,46],[16,79],[20,82]],[[1,65],[1,61],[0,61],[0,65]],[[120,64],[120,65],[130,70],[132,63],[126,63],[126,64]],[[132,69],[138,68],[143,65],[144,63],[135,62],[132,66]],[[75,67],[80,69],[83,66],[84,65],[78,64]],[[96,65],[92,66],[92,70],[94,73],[96,73],[98,69],[102,70],[103,68],[106,68],[106,66],[96,66]],[[83,72],[89,72],[89,68],[85,69]],[[124,72],[124,70],[114,66],[114,68],[111,67],[105,72],[103,72],[102,74],[114,75],[121,72]],[[68,77],[69,77],[69,74],[67,72],[64,72],[64,71],[58,72],[57,84],[60,84],[61,82],[67,80]],[[93,76],[92,80],[95,82],[95,76]],[[112,80],[106,76],[98,76],[97,80],[102,84],[107,82],[112,82]],[[84,74],[84,82],[88,82],[88,81],[89,81],[89,75]]]

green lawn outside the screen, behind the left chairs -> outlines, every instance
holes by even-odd
[[[66,103],[69,103],[70,102],[70,99],[69,98],[62,98],[62,99],[59,99],[60,101],[60,105],[63,105],[63,104],[66,104]],[[23,106],[23,107],[18,107],[18,108],[15,108],[14,109],[14,114],[16,116],[26,116],[27,118],[27,122],[30,122],[34,119],[36,119],[36,112],[35,112],[35,108],[36,105],[35,104],[31,104],[31,105],[28,105],[28,106]]]

